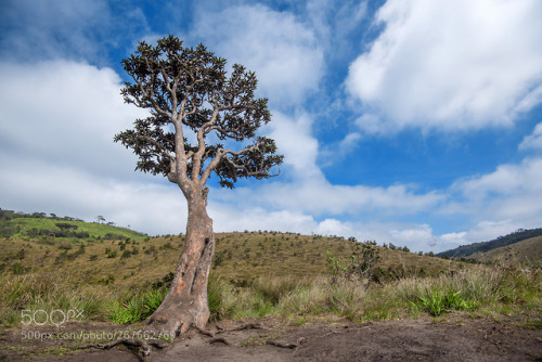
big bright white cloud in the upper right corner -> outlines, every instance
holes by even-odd
[[[367,132],[505,126],[542,100],[542,2],[388,0],[346,87]]]

